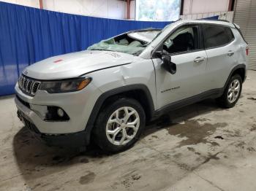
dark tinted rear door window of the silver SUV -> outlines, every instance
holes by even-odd
[[[206,48],[223,46],[234,39],[229,27],[217,25],[203,25],[203,36]]]

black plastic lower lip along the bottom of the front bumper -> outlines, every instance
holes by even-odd
[[[17,115],[20,121],[25,125],[25,128],[28,128],[37,139],[45,142],[45,144],[48,144],[49,146],[80,147],[89,144],[89,141],[86,140],[86,131],[57,135],[40,133],[38,128],[23,112],[18,110]]]

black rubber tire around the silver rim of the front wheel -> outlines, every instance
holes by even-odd
[[[112,99],[113,100],[113,99]],[[106,125],[108,120],[117,109],[120,109],[124,106],[128,106],[132,109],[135,109],[139,116],[139,128],[135,137],[131,139],[127,144],[116,145],[109,141],[106,133]],[[132,98],[118,98],[116,101],[110,101],[110,103],[105,104],[105,106],[99,112],[95,126],[94,126],[94,141],[99,147],[105,152],[122,152],[124,150],[132,147],[136,141],[140,138],[140,133],[145,126],[146,116],[143,107],[138,101]]]

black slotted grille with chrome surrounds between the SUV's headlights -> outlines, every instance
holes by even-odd
[[[23,93],[34,96],[37,93],[40,82],[38,82],[36,79],[31,79],[29,77],[21,75],[18,80],[18,85]]]

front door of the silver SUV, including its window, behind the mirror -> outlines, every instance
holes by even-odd
[[[168,104],[176,104],[186,98],[203,93],[205,82],[207,55],[200,39],[200,26],[181,26],[173,31],[157,52],[170,55],[171,62],[176,63],[176,74],[170,74],[162,67],[162,59],[152,61],[156,70],[157,109]]]

